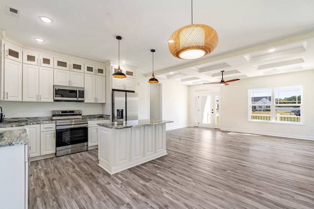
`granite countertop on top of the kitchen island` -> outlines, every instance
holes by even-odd
[[[173,121],[165,121],[165,120],[132,120],[132,121],[121,121],[121,122],[108,122],[108,123],[100,123],[98,124],[101,127],[109,128],[109,129],[126,129],[136,126],[148,126],[154,124],[163,124],[163,123],[173,123]]]

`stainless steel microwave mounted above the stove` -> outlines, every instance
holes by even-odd
[[[53,86],[53,101],[84,102],[84,88],[72,86]]]

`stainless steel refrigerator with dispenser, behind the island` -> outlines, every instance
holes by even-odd
[[[135,92],[112,91],[112,121],[138,119],[138,97]]]

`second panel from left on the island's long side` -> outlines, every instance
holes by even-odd
[[[131,161],[144,157],[144,127],[131,128]]]

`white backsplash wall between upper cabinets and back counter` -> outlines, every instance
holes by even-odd
[[[80,109],[83,115],[102,114],[102,104],[78,102],[0,102],[5,118],[47,117],[52,116],[52,110]],[[38,110],[42,114],[38,114]],[[4,119],[5,120],[5,119]]]

